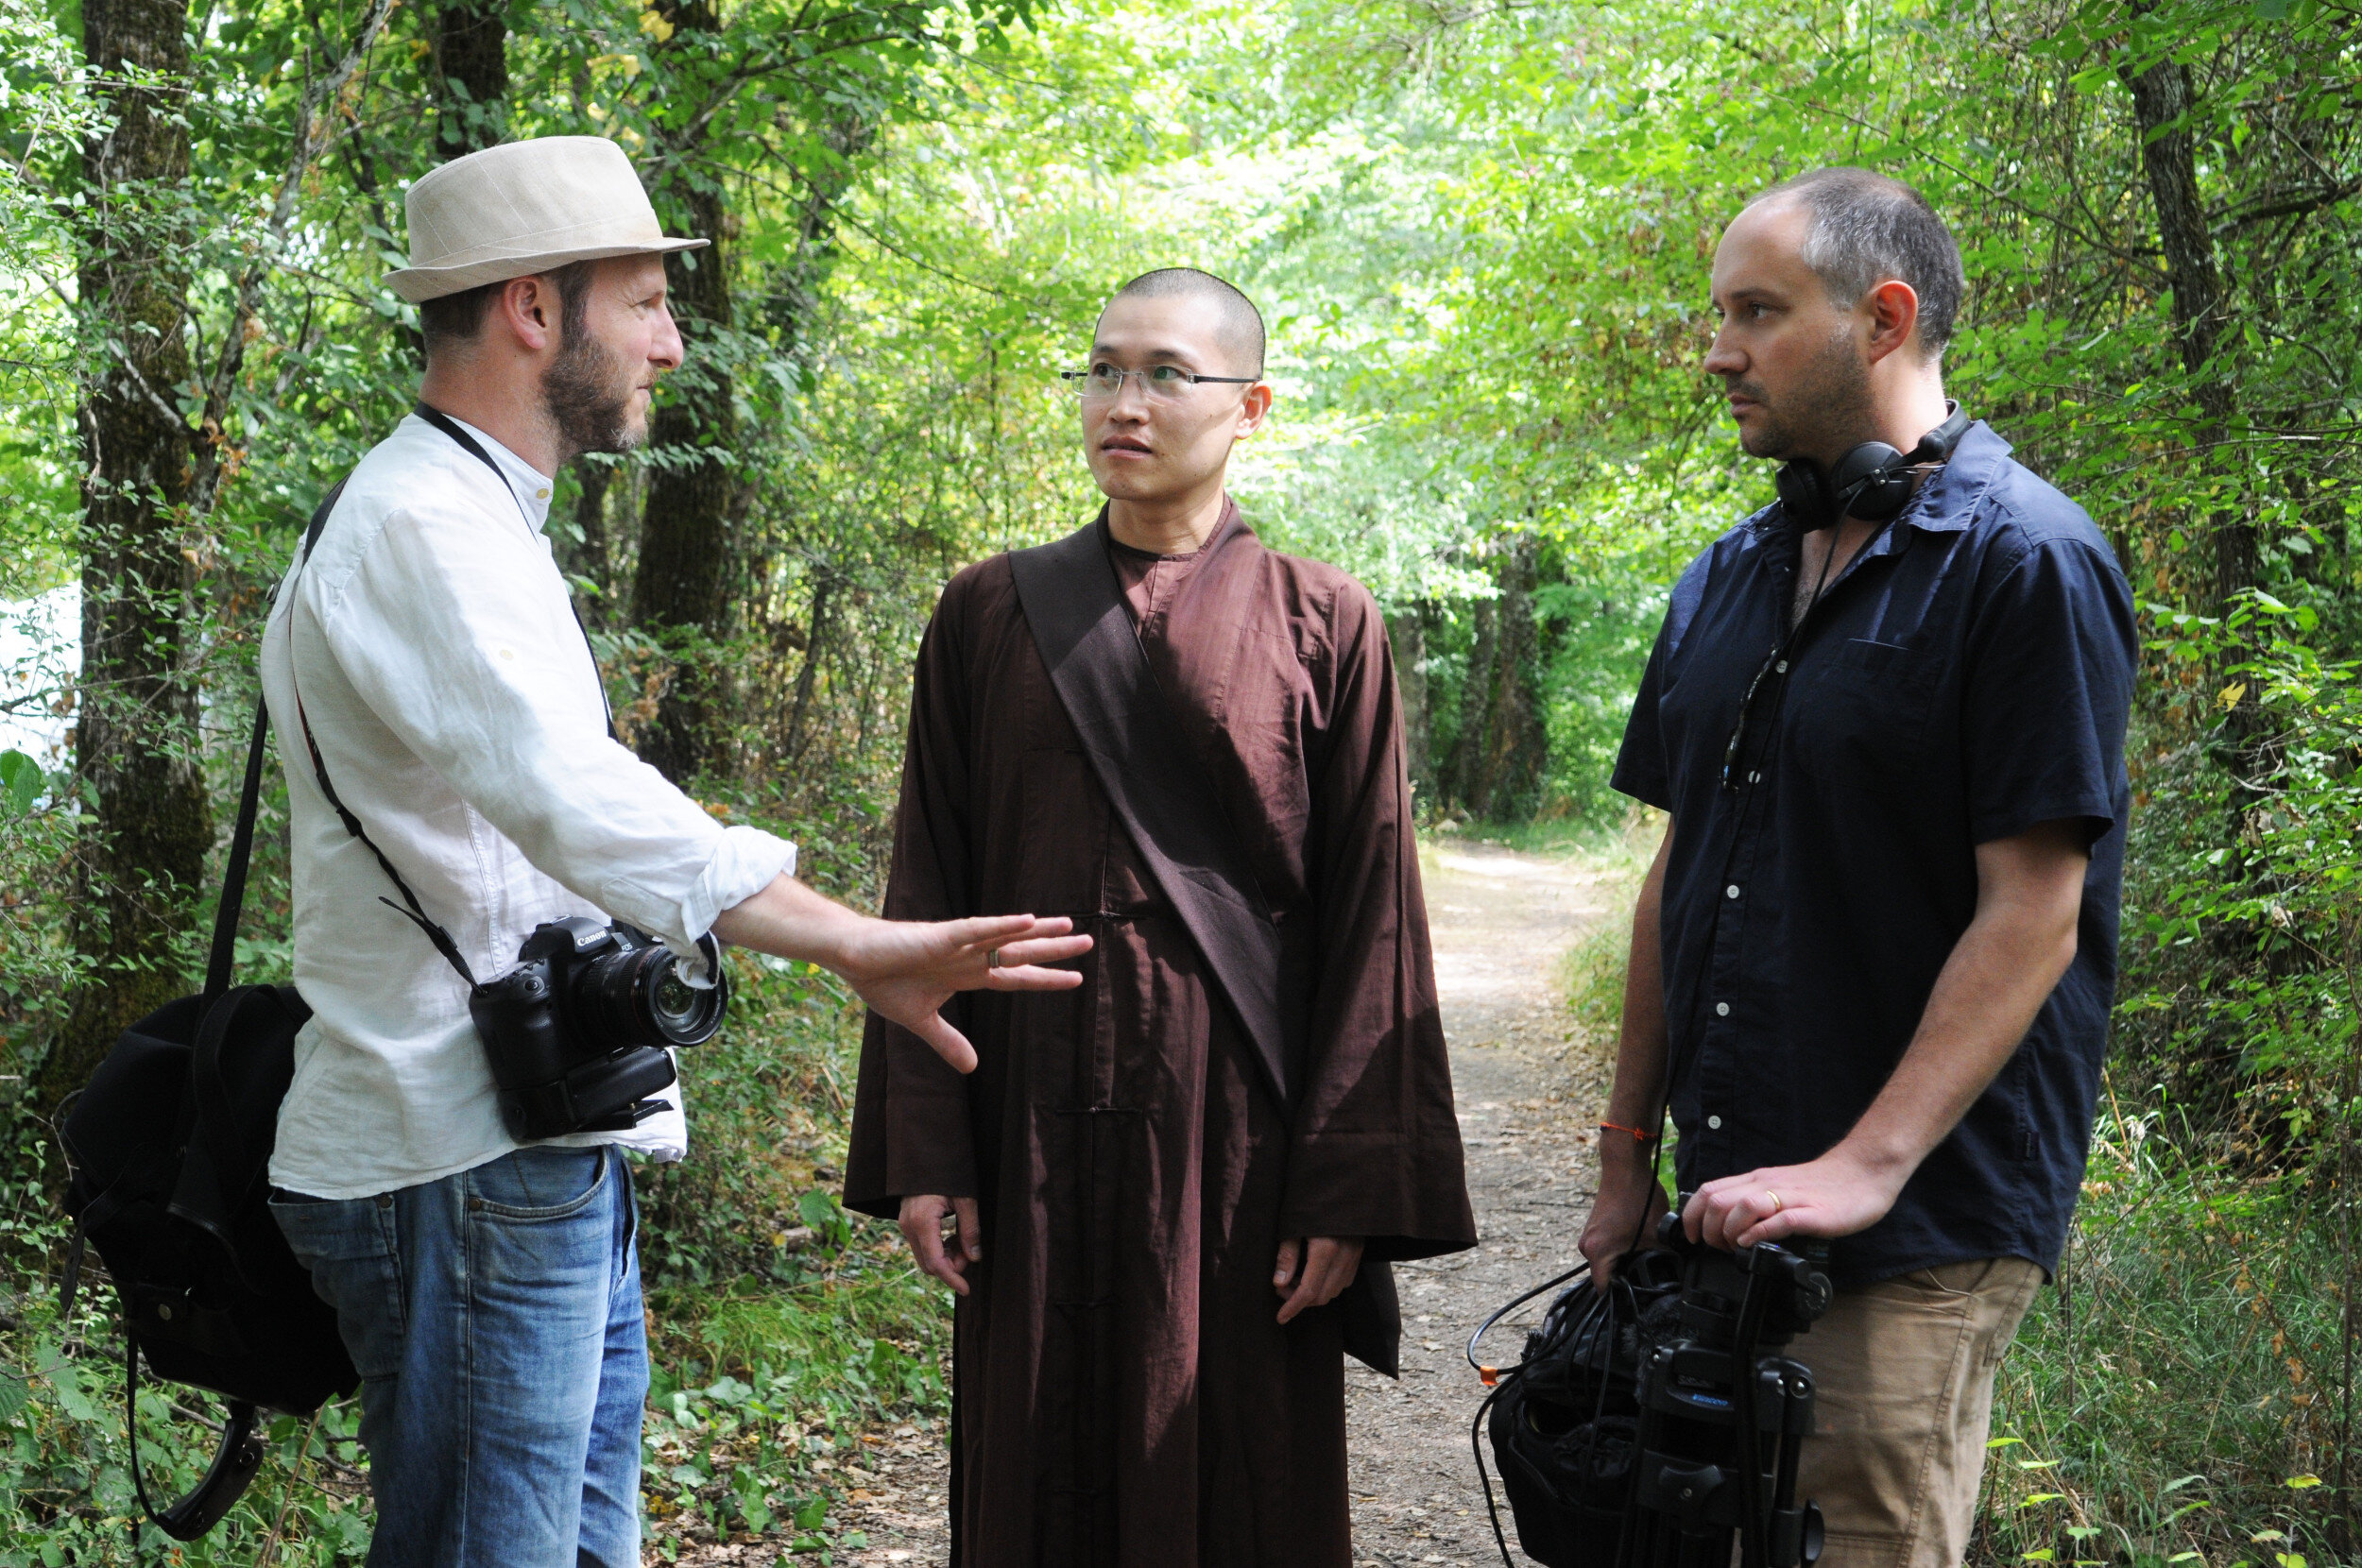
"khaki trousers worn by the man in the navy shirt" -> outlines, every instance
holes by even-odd
[[[1821,1568],[1956,1568],[1994,1419],[1994,1370],[2043,1270],[2027,1259],[1916,1268],[1838,1292],[1788,1353],[1814,1374],[1797,1497],[1821,1504]]]

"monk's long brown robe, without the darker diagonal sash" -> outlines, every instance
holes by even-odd
[[[1105,522],[1101,522],[1105,527]],[[1309,989],[1292,1115],[1110,810],[1009,557],[919,649],[893,919],[1075,916],[1072,992],[971,992],[961,1077],[869,1018],[846,1204],[978,1197],[954,1318],[954,1568],[1346,1568],[1342,1306],[1278,1325],[1283,1237],[1474,1244],[1384,621],[1226,510],[1117,574]],[[1394,1325],[1389,1325],[1394,1327]]]

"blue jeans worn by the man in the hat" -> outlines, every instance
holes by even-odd
[[[272,1214],[361,1372],[371,1568],[638,1568],[647,1329],[631,1169],[522,1148]]]

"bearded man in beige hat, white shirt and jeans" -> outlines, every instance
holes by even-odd
[[[600,137],[446,163],[409,227],[418,409],[314,520],[262,642],[314,1008],[272,1209],[364,1379],[373,1566],[635,1563],[619,1152],[687,1148],[664,1046],[723,1011],[716,940],[824,963],[966,1070],[942,1001],[1072,987],[1044,966],[1089,937],[860,916],[612,739],[541,527],[560,465],[645,439],[683,357],[664,255],[706,241]]]

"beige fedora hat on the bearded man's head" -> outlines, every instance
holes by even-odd
[[[411,264],[385,281],[411,305],[567,262],[711,243],[664,236],[640,175],[607,137],[487,146],[418,179],[404,208]]]

